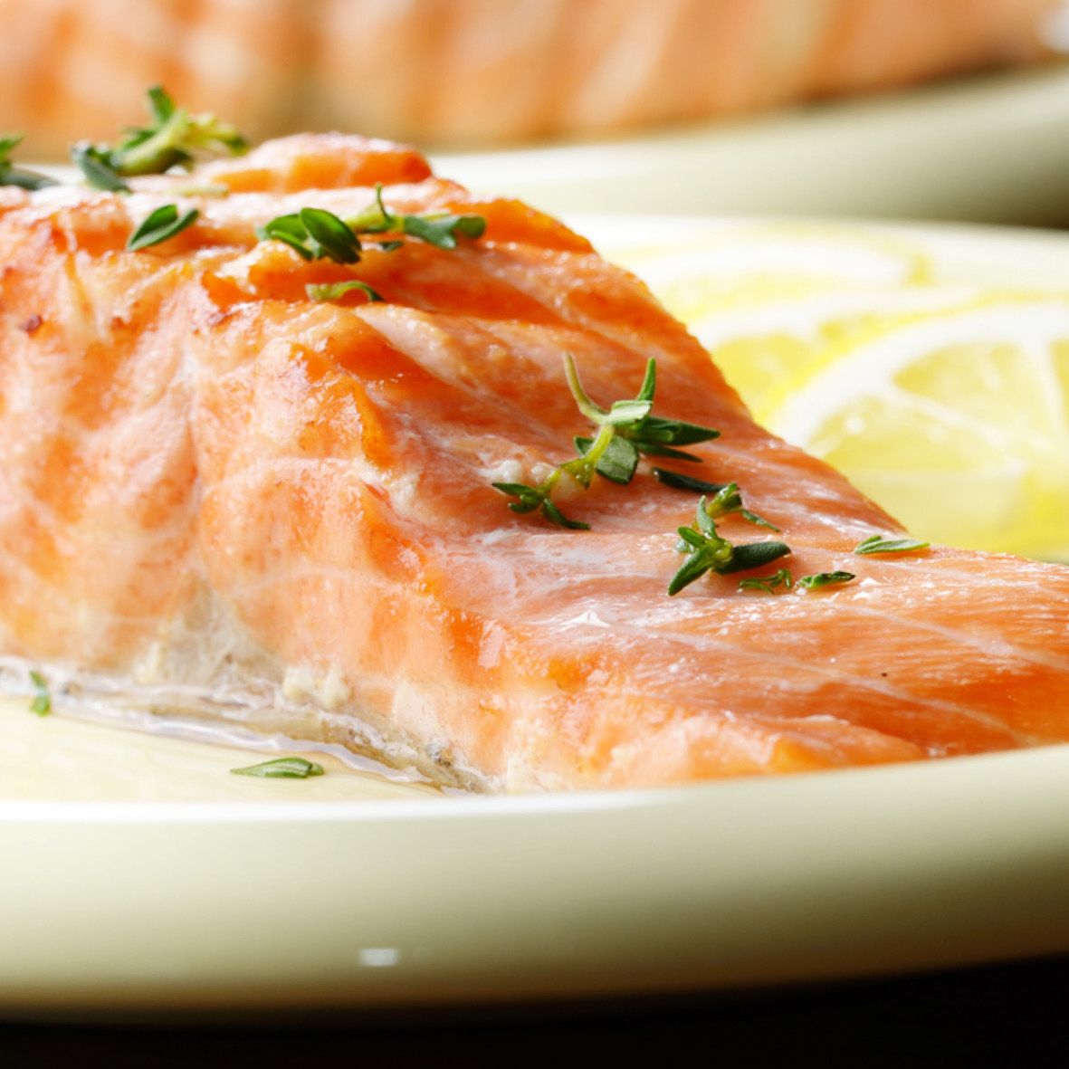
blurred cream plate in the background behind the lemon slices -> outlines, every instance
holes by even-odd
[[[1069,223],[1069,64],[655,135],[441,155],[553,213],[786,213]]]

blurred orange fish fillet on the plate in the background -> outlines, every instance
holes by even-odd
[[[65,155],[165,82],[253,138],[478,148],[1040,60],[1060,0],[0,0],[0,129]]]

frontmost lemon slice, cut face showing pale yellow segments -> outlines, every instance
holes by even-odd
[[[879,323],[780,383],[761,416],[915,534],[1069,549],[1069,299]]]

